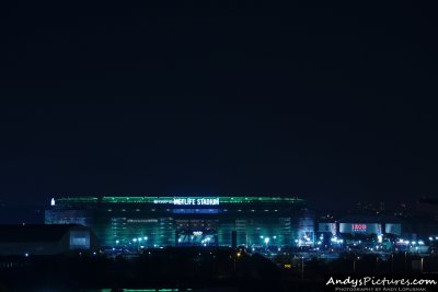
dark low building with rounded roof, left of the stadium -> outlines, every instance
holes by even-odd
[[[78,224],[0,225],[0,255],[57,255],[99,248],[94,233]]]

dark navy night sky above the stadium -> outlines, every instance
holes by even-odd
[[[0,10],[0,198],[437,195],[433,7],[146,2]]]

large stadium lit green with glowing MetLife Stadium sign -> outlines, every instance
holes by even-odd
[[[106,247],[314,243],[313,213],[295,197],[58,198],[45,222],[90,226]]]

